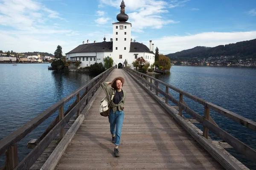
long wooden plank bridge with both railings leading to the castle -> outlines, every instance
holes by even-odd
[[[118,76],[125,78],[127,96],[120,157],[116,158],[108,118],[100,116],[99,104],[105,96],[100,83]],[[170,94],[170,89],[179,93],[179,99]],[[64,111],[64,105],[74,97],[76,101]],[[204,116],[189,108],[183,97],[203,105]],[[234,147],[253,162],[256,151],[218,127],[210,109],[256,131],[256,122],[160,80],[129,68],[110,68],[1,140],[0,155],[6,155],[6,164],[0,170],[247,170],[223,146]],[[56,119],[38,139],[29,142],[33,149],[18,162],[17,142],[56,111]],[[183,116],[185,113],[204,126],[203,132]],[[208,130],[228,144],[209,139]]]

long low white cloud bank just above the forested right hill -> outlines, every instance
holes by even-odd
[[[256,31],[249,32],[204,32],[187,36],[169,36],[153,40],[154,48],[158,47],[162,54],[175,53],[196,46],[215,47],[245,40],[256,39]],[[147,41],[143,44],[148,45]]]

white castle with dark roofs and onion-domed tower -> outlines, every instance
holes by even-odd
[[[125,14],[125,2],[122,0],[120,14],[116,16],[119,22],[113,24],[113,38],[109,42],[104,37],[103,42],[87,43],[74,48],[66,53],[66,60],[72,62],[81,61],[80,67],[90,66],[96,62],[102,62],[105,57],[113,59],[113,66],[121,68],[126,64],[133,67],[132,62],[143,57],[147,62],[154,63],[154,44],[149,41],[149,48],[143,43],[132,42],[131,23],[127,23],[128,15]]]

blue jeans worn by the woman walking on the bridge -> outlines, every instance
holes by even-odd
[[[108,121],[110,123],[110,133],[111,135],[116,135],[115,145],[119,146],[122,130],[122,122],[124,120],[124,111],[116,111],[113,113],[111,109],[108,116]]]

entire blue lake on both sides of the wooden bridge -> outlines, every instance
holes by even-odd
[[[48,65],[0,64],[0,139],[95,77],[89,73],[49,71]],[[153,77],[256,121],[256,68],[172,66],[170,74],[157,74]],[[176,92],[170,93],[178,99]],[[204,107],[189,99],[184,100],[201,115],[204,113]],[[38,138],[55,116],[52,115],[18,143],[19,160],[30,151],[26,148],[26,143],[30,139]],[[211,116],[228,133],[256,148],[256,132],[213,111]],[[200,125],[197,126],[202,128]],[[212,133],[210,137],[218,139]],[[256,169],[255,164],[244,159],[233,149],[228,151],[250,169]],[[2,156],[0,166],[4,162]]]

